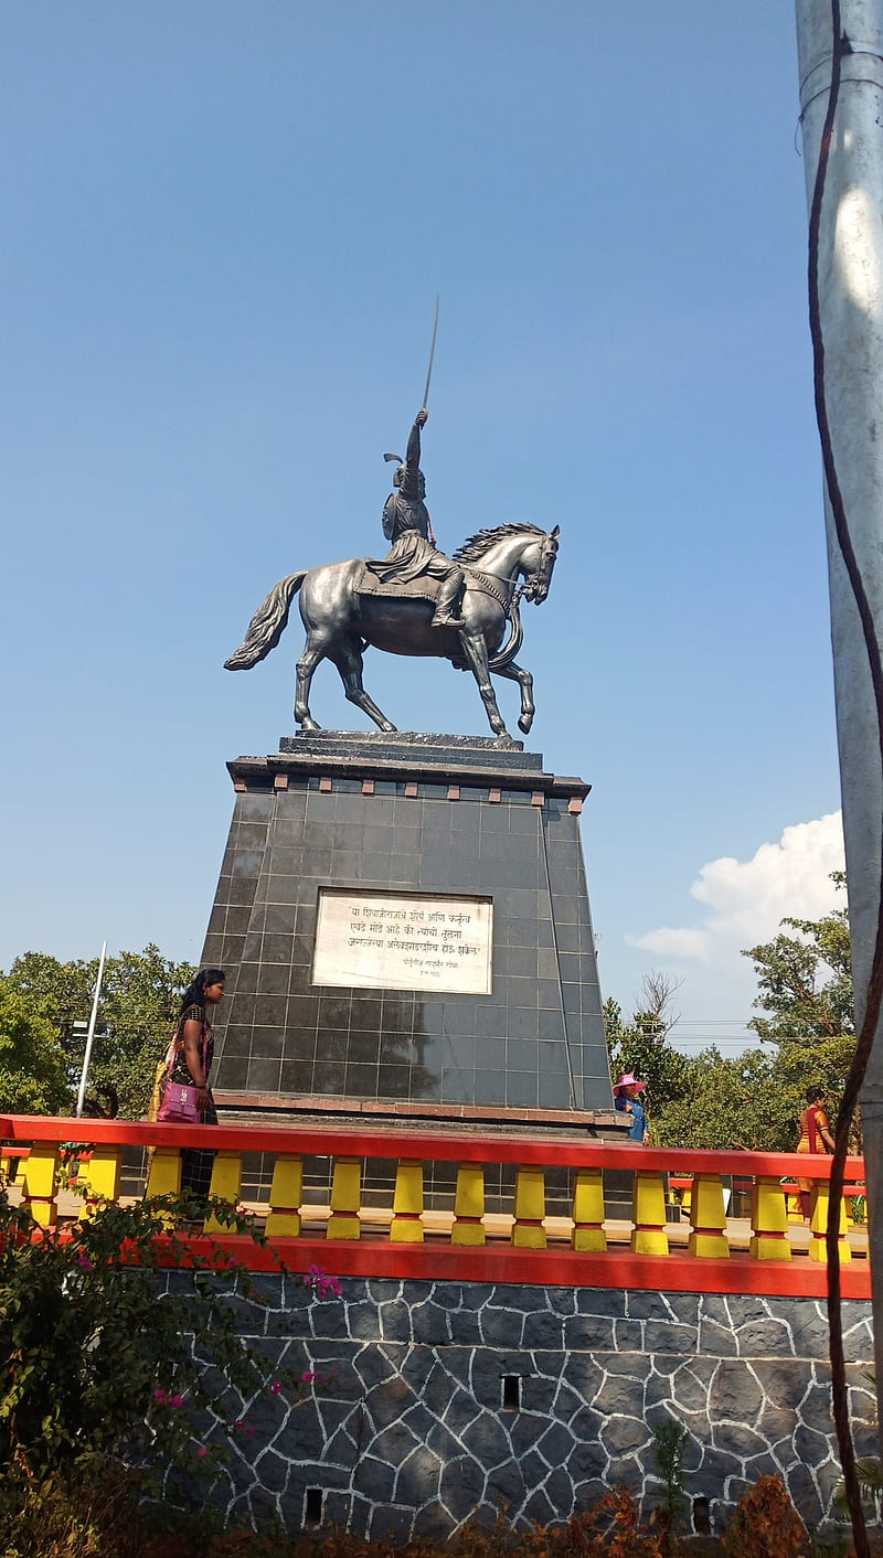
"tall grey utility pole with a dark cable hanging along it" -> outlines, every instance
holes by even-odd
[[[796,8],[855,1022],[858,1052],[871,1047],[860,1097],[883,1391],[883,0]]]

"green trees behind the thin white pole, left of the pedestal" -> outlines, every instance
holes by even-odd
[[[89,1066],[87,1112],[118,1111],[129,1120],[143,1117],[181,994],[195,974],[192,963],[173,963],[153,944],[143,952],[107,958]],[[86,1049],[83,1024],[92,1010],[97,977],[98,958],[61,963],[45,952],[23,953],[6,975],[26,1008],[55,1030],[67,1066],[69,1100],[79,1081]]]

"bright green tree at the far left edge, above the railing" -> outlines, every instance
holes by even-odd
[[[0,1109],[55,1114],[69,1097],[58,1030],[0,975]]]

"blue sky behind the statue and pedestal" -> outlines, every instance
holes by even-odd
[[[561,523],[520,659],[593,785],[604,994],[662,969],[684,1044],[738,1044],[738,947],[839,858],[791,6],[37,0],[0,44],[0,966],[198,958],[299,622],[223,661],[279,576],[377,553],[438,291],[439,544]],[[442,662],[366,686],[486,734]],[[330,667],[313,709],[368,728]]]

